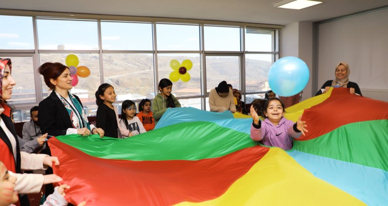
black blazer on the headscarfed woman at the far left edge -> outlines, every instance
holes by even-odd
[[[13,125],[13,122],[10,117],[7,115],[1,113],[0,115],[2,121],[4,121],[5,126],[9,129],[9,131],[13,134],[15,140],[16,140],[16,162],[15,162],[15,168],[16,168],[16,173],[22,173],[20,169],[20,163],[21,163],[21,157],[20,157],[20,147],[19,147],[19,141],[16,136],[16,130],[15,126]],[[13,150],[12,150],[12,144],[11,141],[9,140],[8,136],[5,134],[4,130],[0,128],[0,139],[8,146],[9,152],[13,155]]]

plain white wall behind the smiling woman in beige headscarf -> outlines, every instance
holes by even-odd
[[[361,89],[388,89],[388,9],[318,25],[318,88],[340,61]]]

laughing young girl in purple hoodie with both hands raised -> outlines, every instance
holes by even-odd
[[[299,138],[301,134],[305,135],[307,132],[302,115],[296,123],[284,118],[284,104],[277,98],[268,100],[264,108],[263,117],[265,116],[265,119],[262,122],[253,106],[250,107],[250,114],[253,118],[250,138],[261,141],[263,145],[291,150],[292,138]]]

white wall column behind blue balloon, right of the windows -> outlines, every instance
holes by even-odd
[[[297,22],[284,26],[280,32],[280,57],[296,56],[307,64],[310,71],[310,79],[303,90],[303,100],[312,96],[312,29],[312,23]]]

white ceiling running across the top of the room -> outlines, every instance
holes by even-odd
[[[1,0],[2,9],[166,17],[287,25],[317,22],[388,6],[388,0],[321,0],[301,10],[274,8],[280,0]],[[5,1],[5,2],[4,2]]]

